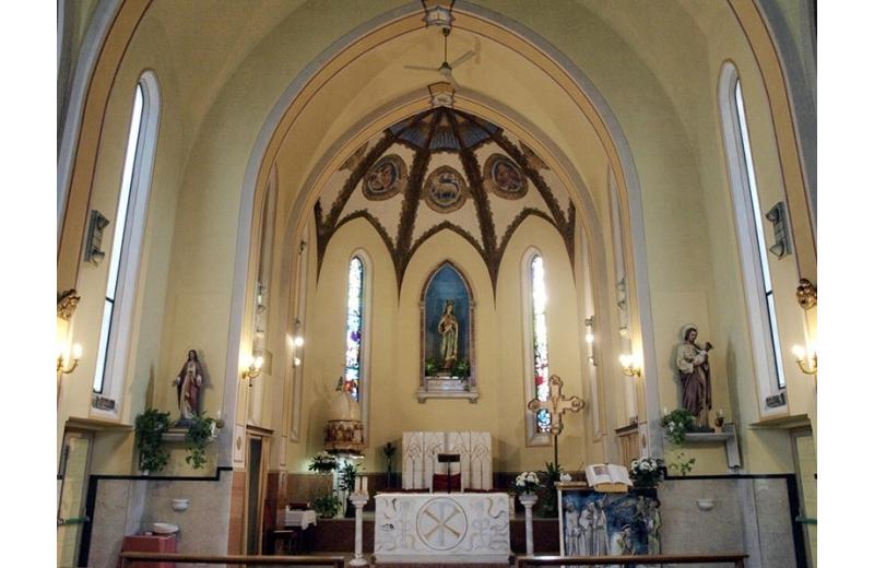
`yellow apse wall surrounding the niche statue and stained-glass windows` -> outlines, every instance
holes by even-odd
[[[291,445],[290,469],[305,469],[308,459],[323,449],[326,405],[343,371],[345,294],[349,260],[357,250],[370,259],[368,275],[370,334],[365,387],[369,397],[368,448],[365,468],[381,471],[379,448],[398,443],[410,430],[483,430],[493,435],[495,469],[542,469],[552,461],[552,447],[525,448],[524,383],[520,282],[521,258],[535,246],[544,256],[550,304],[547,324],[551,372],[562,376],[566,392],[583,395],[579,372],[579,329],[576,289],[567,251],[557,232],[543,220],[530,217],[513,235],[501,264],[497,295],[485,264],[461,237],[441,232],[427,240],[406,270],[400,299],[388,250],[376,232],[362,220],[344,225],[331,239],[312,304],[308,308],[304,442]],[[461,400],[417,402],[420,380],[420,298],[423,286],[442,261],[451,260],[469,277],[476,301],[474,313],[475,365],[481,398],[471,404]],[[366,340],[365,340],[366,341]],[[562,436],[560,459],[577,469],[583,459],[586,414],[567,418]]]

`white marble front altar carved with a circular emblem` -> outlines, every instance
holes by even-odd
[[[510,496],[379,494],[374,541],[377,563],[506,565],[510,557]]]

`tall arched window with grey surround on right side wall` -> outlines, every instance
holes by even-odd
[[[731,63],[722,68],[719,93],[753,358],[760,393],[770,397],[786,388],[786,376],[743,92],[737,70]]]

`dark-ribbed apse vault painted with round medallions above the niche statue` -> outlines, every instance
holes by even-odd
[[[555,227],[572,264],[576,212],[558,176],[500,127],[438,107],[389,127],[331,176],[315,205],[318,263],[340,227],[364,218],[388,247],[400,289],[418,247],[447,229],[476,249],[494,291],[504,251],[531,215]]]

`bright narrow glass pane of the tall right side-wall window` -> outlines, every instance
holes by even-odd
[[[744,96],[741,92],[741,81],[734,84],[734,108],[737,113],[737,123],[741,130],[741,143],[744,146],[744,165],[746,179],[748,181],[749,203],[752,205],[753,220],[756,226],[756,242],[758,249],[758,261],[761,269],[761,281],[759,285],[765,293],[765,303],[768,307],[768,330],[771,335],[771,351],[777,367],[777,387],[786,387],[786,376],[783,376],[783,363],[780,356],[780,335],[777,332],[777,310],[773,307],[773,287],[771,286],[771,273],[768,270],[768,246],[765,244],[765,229],[761,226],[761,210],[759,209],[758,187],[756,186],[756,171],[753,169],[753,155],[749,151],[749,133],[746,130],[746,114],[744,113]]]

